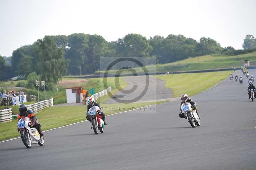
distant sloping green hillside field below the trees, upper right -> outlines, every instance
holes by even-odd
[[[250,65],[256,65],[256,52],[236,55],[236,56],[218,56],[218,55],[206,55],[194,58],[188,58],[185,60],[158,64],[158,65],[148,65],[145,66],[149,73],[159,73],[159,72],[177,72],[177,71],[192,71],[192,70],[210,70],[210,69],[221,69],[221,68],[240,68],[241,62],[237,61],[237,58],[242,60],[250,60]],[[137,73],[144,73],[141,68],[134,68]],[[117,70],[110,70],[109,74],[116,74]],[[99,71],[104,73],[105,71]],[[129,69],[123,72],[123,74],[131,74]]]

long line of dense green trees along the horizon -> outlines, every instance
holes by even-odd
[[[252,35],[247,35],[243,48],[252,49],[256,47],[255,42]],[[207,54],[230,54],[234,50],[233,47],[222,48],[220,43],[209,37],[196,41],[173,34],[166,38],[156,35],[150,39],[140,34],[128,34],[112,42],[107,42],[100,35],[83,33],[45,36],[31,45],[14,50],[11,66],[0,56],[0,80],[17,75],[27,77],[35,72],[42,80],[56,84],[62,75],[93,74],[106,69],[100,68],[100,62],[105,62],[104,59],[100,61],[101,56],[147,56],[147,64],[156,64],[156,61],[164,64]]]

